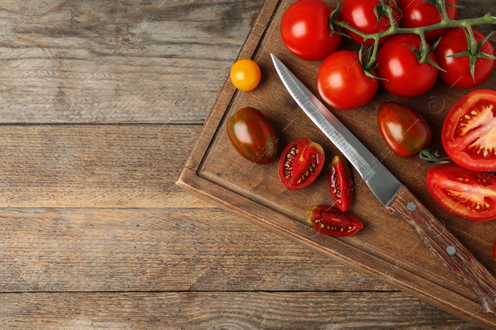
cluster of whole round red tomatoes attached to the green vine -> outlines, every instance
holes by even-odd
[[[441,16],[431,3],[420,3],[422,0],[385,1],[393,7],[392,17],[395,24],[403,28],[416,28],[436,24]],[[395,7],[397,3],[401,13]],[[446,3],[456,5],[456,0]],[[377,0],[343,0],[340,8],[340,19],[362,33],[373,34],[389,29],[391,22],[387,15],[379,16]],[[456,7],[446,7],[448,18],[456,19]],[[329,105],[350,110],[367,104],[375,95],[378,79],[367,75],[356,51],[339,50],[341,35],[333,33],[329,28],[332,8],[322,0],[298,0],[284,13],[281,21],[281,36],[286,47],[295,55],[311,61],[325,59],[317,74],[317,88],[320,96]],[[373,39],[364,40],[349,29],[345,32],[357,43],[371,47]],[[469,46],[462,28],[442,28],[425,34],[428,42],[440,39],[439,44],[427,56],[432,63],[438,65],[439,71],[432,63],[419,62],[419,56],[409,47],[421,50],[421,38],[417,34],[389,35],[379,39],[382,47],[377,53],[377,69],[370,73],[379,77],[381,85],[391,94],[401,97],[414,97],[429,91],[437,76],[450,87],[469,89],[485,82],[492,73],[496,60],[477,57],[475,80],[470,71],[468,56],[446,57],[467,51]],[[477,42],[484,35],[472,28]],[[428,46],[431,45],[428,43]],[[487,40],[481,52],[495,55],[495,49]],[[363,59],[363,58],[362,58]]]

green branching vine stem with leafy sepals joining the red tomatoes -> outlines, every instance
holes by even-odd
[[[496,17],[491,16],[490,13],[487,13],[486,15],[480,17],[480,18],[469,18],[469,19],[460,19],[460,20],[454,20],[450,19],[446,13],[446,6],[450,7],[461,7],[457,5],[452,5],[449,3],[446,3],[445,0],[425,0],[420,3],[431,3],[433,4],[438,10],[439,13],[441,14],[441,21],[439,23],[429,25],[429,26],[424,26],[424,27],[418,27],[418,28],[400,28],[396,24],[396,20],[394,19],[393,16],[393,11],[398,10],[399,8],[397,7],[391,7],[389,4],[391,1],[395,4],[395,0],[378,0],[378,6],[374,8],[375,15],[377,16],[377,23],[380,21],[380,19],[383,16],[387,16],[389,18],[389,21],[391,22],[391,26],[389,27],[388,30],[379,32],[379,33],[374,33],[374,34],[366,34],[363,32],[358,31],[355,28],[352,28],[349,26],[347,23],[343,21],[337,21],[337,13],[338,9],[336,8],[332,13],[329,18],[329,27],[331,29],[331,36],[334,33],[338,33],[340,35],[346,36],[349,38],[349,36],[344,33],[343,31],[339,31],[337,27],[340,27],[342,29],[348,29],[352,32],[355,32],[357,35],[361,36],[364,38],[364,40],[368,39],[373,39],[373,47],[370,48],[366,52],[365,56],[365,61],[361,61],[362,66],[364,68],[364,72],[367,76],[372,77],[372,78],[378,78],[375,77],[371,71],[377,67],[377,64],[375,63],[375,60],[377,58],[377,50],[379,48],[379,39],[385,36],[390,36],[393,34],[400,34],[400,33],[414,33],[420,36],[420,39],[422,41],[422,45],[420,49],[413,49],[412,47],[409,47],[415,55],[417,55],[417,58],[419,60],[419,63],[430,63],[434,65],[437,69],[442,70],[437,64],[434,63],[430,58],[427,56],[434,50],[434,48],[437,46],[439,43],[439,40],[433,45],[433,47],[429,47],[429,45],[426,42],[425,38],[425,33],[428,31],[432,30],[437,30],[437,29],[442,29],[442,28],[455,28],[455,27],[461,27],[461,28],[466,28],[465,35],[467,37],[467,43],[468,43],[468,50],[459,52],[453,55],[450,55],[450,57],[459,57],[459,56],[468,56],[470,60],[470,72],[472,74],[472,78],[475,81],[474,77],[474,71],[475,71],[475,61],[477,60],[478,57],[483,57],[483,58],[493,58],[496,59],[496,56],[486,54],[485,52],[480,51],[482,45],[493,35],[494,32],[489,34],[486,38],[484,38],[482,41],[479,43],[476,41],[474,38],[474,34],[472,32],[472,26],[474,25],[481,25],[481,24],[496,24]],[[468,31],[468,33],[467,33]],[[360,55],[363,53],[363,46],[360,48]],[[362,56],[359,56],[361,59]]]

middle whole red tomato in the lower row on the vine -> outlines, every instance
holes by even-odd
[[[377,73],[380,78],[386,79],[381,79],[380,83],[389,93],[414,97],[433,87],[439,70],[427,62],[420,64],[417,55],[405,45],[419,50],[420,37],[416,34],[400,34],[389,39],[377,54]],[[434,52],[428,57],[437,63]]]

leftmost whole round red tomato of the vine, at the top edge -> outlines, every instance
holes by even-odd
[[[296,56],[321,61],[336,51],[341,35],[331,36],[329,17],[332,9],[322,0],[299,0],[286,10],[281,20],[284,45]]]

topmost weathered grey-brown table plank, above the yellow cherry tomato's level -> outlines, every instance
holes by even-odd
[[[203,123],[263,0],[3,1],[1,123]]]

